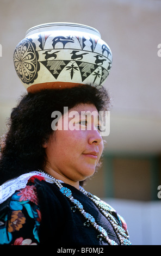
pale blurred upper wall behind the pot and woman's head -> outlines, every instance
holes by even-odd
[[[113,97],[107,151],[161,151],[161,87],[158,44],[159,0],[0,0],[0,132],[25,92],[13,65],[13,52],[26,31],[46,22],[95,27],[113,52],[104,84]]]

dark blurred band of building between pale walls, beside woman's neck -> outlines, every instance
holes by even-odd
[[[103,168],[90,180],[85,189],[98,197],[125,200],[159,200],[161,185],[160,158],[153,156],[105,156]]]

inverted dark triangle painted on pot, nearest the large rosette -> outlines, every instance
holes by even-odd
[[[54,76],[55,79],[58,78],[61,71],[70,62],[70,60],[45,60],[41,62],[49,72]]]

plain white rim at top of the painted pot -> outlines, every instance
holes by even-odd
[[[52,28],[53,27],[53,28]],[[28,31],[26,32],[26,36],[32,35],[33,33],[40,33],[44,31],[67,31],[66,27],[70,27],[71,31],[76,31],[76,28],[81,28],[82,32],[86,32],[97,35],[101,38],[100,32],[90,26],[79,24],[79,23],[72,23],[72,22],[50,22],[50,23],[43,23],[37,26],[34,26],[32,28],[29,28]]]

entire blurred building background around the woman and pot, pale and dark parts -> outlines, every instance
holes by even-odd
[[[0,0],[0,133],[26,93],[13,52],[26,31],[47,22],[95,27],[113,53],[104,84],[113,99],[103,165],[85,189],[128,225],[133,245],[161,245],[161,2],[159,0]],[[1,177],[0,177],[1,179]]]

